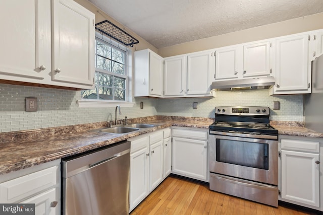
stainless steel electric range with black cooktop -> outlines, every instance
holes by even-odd
[[[216,107],[209,126],[214,191],[278,206],[278,130],[268,107]]]

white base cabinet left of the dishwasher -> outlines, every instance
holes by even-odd
[[[61,214],[60,160],[2,176],[0,202],[34,203],[35,214]]]

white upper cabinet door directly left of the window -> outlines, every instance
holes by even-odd
[[[52,0],[53,81],[94,84],[94,14],[71,0]]]

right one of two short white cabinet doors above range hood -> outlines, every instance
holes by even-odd
[[[270,41],[243,46],[243,77],[270,75]]]

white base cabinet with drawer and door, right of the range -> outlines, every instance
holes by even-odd
[[[321,139],[281,136],[279,144],[280,200],[323,210]]]

